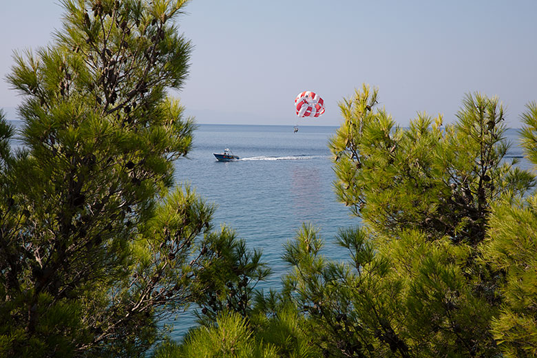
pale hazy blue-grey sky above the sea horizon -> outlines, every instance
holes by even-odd
[[[0,107],[14,50],[50,43],[58,1],[2,0]],[[419,112],[453,123],[465,94],[498,96],[508,127],[537,101],[535,0],[192,0],[177,25],[193,43],[189,78],[173,91],[200,124],[334,125],[338,103],[366,83],[401,126]],[[298,118],[310,90],[319,118]]]

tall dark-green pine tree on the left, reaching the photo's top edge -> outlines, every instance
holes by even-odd
[[[15,54],[21,149],[0,120],[0,355],[142,356],[159,319],[205,289],[214,207],[173,182],[195,128],[167,95],[188,73],[192,46],[173,24],[185,3],[65,0],[54,42]]]

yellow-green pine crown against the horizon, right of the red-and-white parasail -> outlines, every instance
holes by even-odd
[[[403,130],[376,103],[377,89],[365,85],[340,103],[344,123],[330,141],[337,195],[375,231],[419,229],[475,246],[490,202],[534,185],[531,174],[503,162],[509,144],[497,98],[467,95],[444,129],[441,116],[419,114]]]

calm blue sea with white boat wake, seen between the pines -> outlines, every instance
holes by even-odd
[[[18,124],[18,123],[14,123]],[[293,240],[303,223],[313,224],[324,239],[323,255],[347,260],[348,252],[335,244],[340,228],[360,223],[337,200],[335,173],[328,140],[337,127],[290,125],[198,125],[193,149],[175,163],[177,185],[190,185],[216,206],[213,226],[227,225],[249,249],[262,251],[262,261],[273,273],[257,288],[281,287],[289,267],[282,260],[284,244]],[[518,144],[518,130],[508,129],[512,143],[505,160],[531,169]],[[231,149],[240,160],[218,162],[213,153]],[[195,324],[192,309],[172,317],[171,338],[179,341]]]

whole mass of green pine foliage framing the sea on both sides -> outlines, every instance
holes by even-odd
[[[504,109],[468,94],[456,122],[408,129],[364,85],[330,140],[348,262],[304,224],[281,293],[261,253],[173,183],[193,120],[173,25],[187,1],[63,0],[54,43],[15,54],[22,145],[0,112],[0,355],[142,357],[162,318],[198,304],[154,357],[533,357],[537,196],[507,162]],[[537,104],[523,114],[537,165]]]

